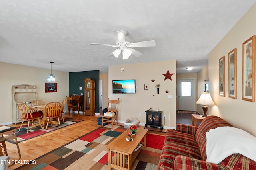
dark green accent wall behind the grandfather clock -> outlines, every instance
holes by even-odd
[[[73,94],[75,90],[76,94],[84,94],[84,80],[90,78],[95,80],[95,113],[100,113],[99,109],[99,86],[100,86],[100,71],[81,71],[81,72],[70,72],[69,73],[69,96]],[[79,86],[82,90],[79,90]]]

